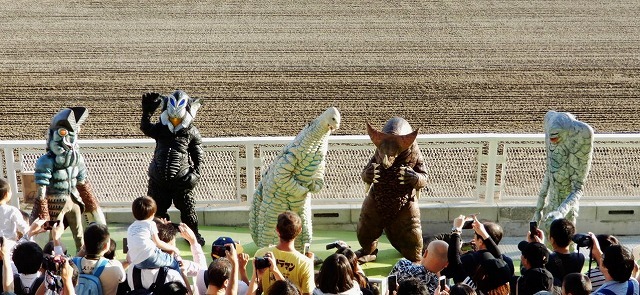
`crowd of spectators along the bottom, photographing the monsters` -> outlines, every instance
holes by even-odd
[[[0,268],[3,294],[84,294],[87,278],[95,276],[102,294],[629,294],[638,295],[638,265],[631,250],[611,235],[577,234],[566,219],[523,232],[518,244],[519,269],[499,248],[503,229],[477,216],[460,215],[451,233],[425,243],[422,259],[399,259],[388,277],[388,289],[373,284],[355,252],[336,241],[335,253],[323,257],[314,271],[314,254],[294,247],[301,233],[300,217],[290,211],[278,216],[276,245],[258,249],[254,259],[230,237],[220,237],[207,258],[194,232],[185,224],[154,217],[155,203],[140,197],[132,203],[135,221],[127,230],[126,260],[115,258],[116,243],[106,225],[90,224],[83,246],[69,257],[61,241],[64,224],[44,220],[29,224],[24,214],[7,205],[11,191],[0,181]],[[473,232],[464,241],[463,230]],[[43,250],[34,237],[47,233]],[[190,245],[192,260],[183,259],[176,236]],[[548,237],[548,238],[547,238]],[[545,241],[548,239],[548,241]],[[585,257],[576,247],[584,247]],[[124,249],[123,249],[124,250]],[[636,257],[638,258],[638,257]],[[253,273],[247,276],[252,261]],[[587,271],[584,269],[587,268]],[[386,285],[386,284],[384,284]],[[384,293],[382,293],[384,294]],[[381,294],[381,295],[382,295]]]

